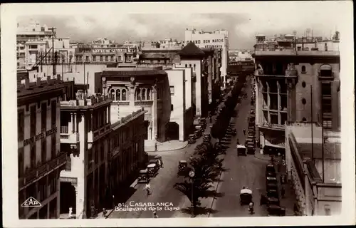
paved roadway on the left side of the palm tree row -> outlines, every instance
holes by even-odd
[[[216,116],[213,117],[213,121]],[[207,120],[206,131],[209,130],[209,120]],[[178,190],[174,189],[173,185],[176,182],[182,182],[184,177],[177,177],[178,162],[179,160],[189,160],[189,157],[193,154],[194,149],[197,145],[202,142],[203,138],[199,138],[196,143],[190,144],[184,149],[173,150],[173,151],[160,151],[160,152],[148,152],[150,156],[162,155],[164,167],[159,170],[156,177],[152,178],[150,181],[150,186],[152,190],[152,195],[147,197],[145,192],[145,184],[138,184],[135,186],[136,191],[127,200],[125,205],[130,205],[132,203],[172,203],[173,207],[179,207],[180,209],[187,207],[187,197],[183,195]],[[188,200],[189,202],[189,200]],[[134,208],[134,207],[131,207]],[[135,207],[136,209],[137,207]],[[189,214],[182,213],[179,210],[174,210],[174,208],[169,207],[173,210],[158,211],[157,214],[159,218],[169,218],[169,217],[189,217]],[[152,218],[152,211],[135,211],[135,212],[117,212],[113,211],[109,218]]]

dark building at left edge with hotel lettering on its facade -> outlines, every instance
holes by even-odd
[[[73,93],[73,82],[59,78],[37,78],[17,86],[19,141],[19,218],[59,217],[59,173],[66,165],[66,152],[60,147],[60,102]],[[26,206],[32,197],[40,207]],[[27,205],[28,205],[27,201]]]

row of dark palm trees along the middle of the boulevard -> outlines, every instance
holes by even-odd
[[[244,86],[244,79],[241,78],[241,81],[235,84],[233,90],[231,90],[231,96],[227,98],[219,116],[216,118],[216,123],[211,128],[213,138],[221,140],[224,137],[237,103],[237,97]],[[218,181],[221,172],[224,171],[222,166],[224,159],[221,158],[221,155],[226,153],[219,144],[212,145],[211,142],[202,142],[197,145],[189,160],[189,166],[184,172],[184,181],[177,182],[174,185],[174,188],[186,195],[191,202],[192,215],[194,216],[194,211],[197,206],[201,205],[200,200],[202,198],[216,197],[216,192],[210,189],[213,187],[213,182]],[[194,171],[194,177],[189,177],[189,171]]]

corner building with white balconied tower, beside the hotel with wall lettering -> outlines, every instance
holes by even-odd
[[[67,152],[61,172],[61,214],[81,219],[91,208],[111,206],[112,194],[143,162],[143,110],[111,124],[108,95],[76,93],[61,102],[61,149]],[[120,145],[120,146],[119,146]],[[71,208],[71,209],[70,209]]]

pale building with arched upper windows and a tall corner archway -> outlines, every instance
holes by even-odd
[[[171,96],[167,73],[162,68],[105,68],[101,76],[104,93],[114,98],[112,122],[132,113],[132,108],[143,107],[147,111],[145,140],[166,140]]]

